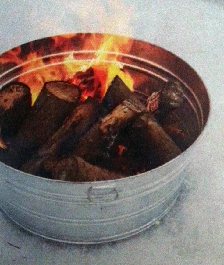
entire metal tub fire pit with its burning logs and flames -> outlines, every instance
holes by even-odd
[[[1,123],[1,208],[63,242],[113,241],[162,218],[209,115],[189,65],[116,35],[16,47],[0,56],[0,85],[2,106],[16,97]]]

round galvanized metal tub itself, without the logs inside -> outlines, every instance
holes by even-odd
[[[122,38],[105,34],[95,36]],[[63,38],[63,35],[59,37]],[[64,37],[68,38],[68,35]],[[70,34],[69,46],[65,47],[63,43],[55,51],[48,47],[49,40],[52,40],[50,38],[24,44],[23,47],[10,51],[15,53],[20,50],[20,53],[23,51],[25,54],[20,56],[18,64],[3,62],[5,54],[1,55],[0,85],[24,74],[35,75],[41,67],[51,67],[52,61],[48,59],[52,57],[57,58],[58,65],[62,65],[65,53],[76,54],[76,59],[80,61],[92,60],[98,48],[94,47],[92,50],[94,45],[90,33]],[[86,42],[90,39],[91,41]],[[158,168],[111,181],[71,183],[50,180],[0,163],[1,209],[30,232],[69,243],[114,241],[137,234],[153,225],[169,211],[178,197],[181,183],[187,174],[186,167],[197,146],[196,140],[208,120],[208,93],[197,73],[176,55],[140,40],[130,40],[129,52],[122,53],[119,57],[119,62],[130,73],[145,75],[152,86],[159,87],[171,77],[183,84],[187,104],[179,118],[194,136],[190,147]],[[33,59],[35,64],[27,61],[24,52],[31,44],[33,47],[41,45],[44,51],[40,58]],[[43,58],[45,65],[41,66],[38,63]],[[111,61],[108,60],[107,63]],[[27,67],[23,68],[21,65]]]

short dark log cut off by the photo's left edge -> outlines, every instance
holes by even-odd
[[[1,137],[16,134],[31,109],[30,88],[20,82],[10,82],[0,90]]]

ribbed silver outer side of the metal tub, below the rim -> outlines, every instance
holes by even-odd
[[[180,159],[184,160],[180,162]],[[61,194],[55,194],[45,190],[45,179],[40,181],[36,177],[33,183],[36,187],[29,187],[21,184],[27,176],[14,171],[10,179],[3,176],[0,204],[2,210],[21,227],[49,239],[83,244],[122,239],[153,225],[172,207],[179,194],[188,159],[184,155],[173,163],[178,166],[164,166],[163,176],[158,176],[155,171],[151,176],[142,174],[117,181],[115,187],[119,196],[112,201],[104,197],[100,202],[90,201],[88,191],[94,184],[103,190],[107,185],[102,183],[101,186],[99,183],[76,184],[83,196],[75,196],[75,190],[71,195],[66,190],[67,183],[59,182],[56,184],[65,184],[65,189]],[[22,178],[20,174],[23,174]],[[147,181],[148,184],[145,183],[147,177],[151,180]],[[134,186],[134,182],[138,185]],[[52,191],[55,191],[54,182],[51,184]]]

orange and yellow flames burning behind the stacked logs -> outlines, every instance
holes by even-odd
[[[121,53],[128,53],[131,44],[130,38],[122,36],[67,34],[16,47],[2,54],[0,63],[21,67],[16,80],[30,87],[33,103],[44,83],[55,80],[78,85],[83,100],[92,96],[101,101],[116,75],[133,89],[133,78],[120,62]]]

